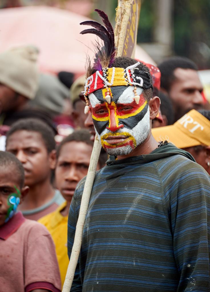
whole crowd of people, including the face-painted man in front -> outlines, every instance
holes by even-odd
[[[209,291],[210,105],[196,64],[115,58],[102,84],[96,70],[41,73],[38,57],[0,53],[0,290],[62,290],[97,134],[71,291]]]

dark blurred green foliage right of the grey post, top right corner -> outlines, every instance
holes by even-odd
[[[209,0],[176,0],[174,5],[174,51],[200,68],[210,62],[209,11]]]

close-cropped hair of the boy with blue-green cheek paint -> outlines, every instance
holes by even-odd
[[[24,168],[22,166],[22,163],[15,157],[15,155],[9,152],[0,151],[0,166],[3,168],[12,166],[13,169],[15,168],[16,173],[13,175],[17,174],[19,176],[20,188],[22,189],[22,187],[24,186],[25,178]]]

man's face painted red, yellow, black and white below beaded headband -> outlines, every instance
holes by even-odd
[[[127,155],[143,143],[150,132],[150,111],[137,87],[139,103],[134,100],[134,86],[110,87],[111,103],[106,100],[106,88],[91,93],[88,98],[97,135],[110,155]]]

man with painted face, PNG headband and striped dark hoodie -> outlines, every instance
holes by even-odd
[[[116,159],[96,173],[71,292],[209,291],[209,175],[151,135],[159,98],[145,65],[115,58],[87,73],[85,111]],[[70,206],[69,256],[84,182]]]

